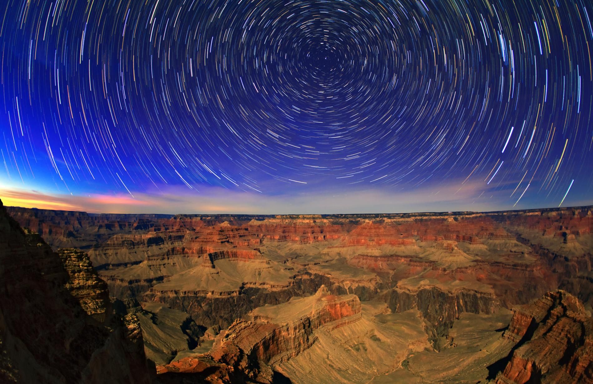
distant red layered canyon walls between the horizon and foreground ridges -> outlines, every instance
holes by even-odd
[[[312,295],[417,308],[434,337],[562,288],[593,300],[589,207],[391,215],[93,215],[9,208],[50,245],[88,252],[114,298],[204,327]]]

